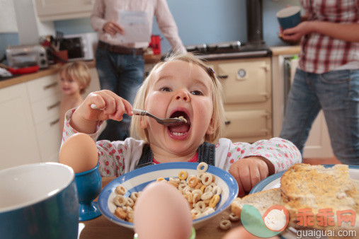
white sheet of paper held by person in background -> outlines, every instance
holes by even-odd
[[[122,43],[127,42],[149,42],[149,22],[145,11],[119,11],[118,23],[125,30],[116,36]]]

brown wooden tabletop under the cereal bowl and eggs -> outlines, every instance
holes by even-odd
[[[108,182],[114,180],[115,177],[103,177],[102,187]],[[220,221],[228,219],[230,208],[215,218],[212,218],[207,226],[196,230],[196,238],[222,238],[228,231],[222,231],[219,228]],[[101,215],[90,221],[83,221],[85,228],[81,231],[79,238],[133,238],[134,232],[128,228],[122,227],[109,221],[105,216]],[[240,221],[232,222],[232,228],[241,225]]]

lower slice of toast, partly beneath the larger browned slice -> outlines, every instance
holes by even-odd
[[[283,205],[284,202],[280,196],[280,188],[256,192],[254,194],[246,195],[246,197],[237,197],[231,204],[231,211],[236,216],[241,218],[241,209],[244,204],[249,204],[258,209],[261,216],[273,205]]]

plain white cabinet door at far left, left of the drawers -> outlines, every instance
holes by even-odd
[[[0,89],[0,170],[40,162],[25,83]]]

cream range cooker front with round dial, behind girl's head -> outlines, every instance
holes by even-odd
[[[220,78],[224,93],[224,137],[255,142],[272,137],[270,58],[207,62]]]

